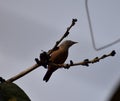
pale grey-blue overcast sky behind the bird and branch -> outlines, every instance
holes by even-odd
[[[89,67],[59,69],[48,83],[42,80],[46,70],[40,67],[15,83],[32,101],[108,101],[120,82],[120,1],[85,2],[0,0],[0,76],[9,79],[35,64],[41,50],[52,48],[77,18],[66,39],[79,43],[71,47],[66,63],[112,50],[116,56]]]

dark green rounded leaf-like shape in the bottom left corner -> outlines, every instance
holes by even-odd
[[[0,83],[0,101],[31,101],[27,94],[15,83]]]

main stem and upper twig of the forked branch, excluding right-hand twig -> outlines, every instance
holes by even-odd
[[[33,66],[27,68],[26,70],[20,72],[19,74],[11,77],[10,79],[6,80],[7,82],[14,82],[15,80],[23,77],[24,75],[28,74],[29,72],[33,71],[34,69],[38,68],[39,66],[44,66],[46,68],[46,66],[48,65],[49,62],[49,57],[50,54],[57,48],[58,44],[69,35],[69,31],[70,29],[75,25],[75,22],[77,22],[77,19],[73,19],[71,25],[67,28],[66,32],[64,33],[64,35],[61,37],[61,39],[59,41],[56,42],[55,46],[48,52],[43,52],[40,54],[40,60],[35,58],[35,61],[37,62],[36,64],[34,64]]]

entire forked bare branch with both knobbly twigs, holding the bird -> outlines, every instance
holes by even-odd
[[[103,55],[101,56],[100,58],[99,57],[96,57],[92,60],[88,60],[88,59],[85,59],[84,61],[82,62],[78,62],[78,63],[73,63],[73,61],[70,61],[70,64],[54,64],[54,63],[51,63],[49,61],[50,59],[50,54],[56,50],[56,48],[58,47],[58,44],[65,38],[69,35],[69,31],[70,29],[75,25],[75,22],[77,21],[77,19],[73,19],[72,20],[72,23],[71,25],[67,28],[67,31],[65,32],[65,34],[61,37],[61,39],[59,41],[56,42],[55,46],[48,52],[42,52],[40,54],[40,58],[35,58],[35,61],[36,61],[36,64],[34,64],[33,66],[27,68],[26,70],[20,72],[19,74],[11,77],[10,79],[6,80],[7,82],[14,82],[15,80],[25,76],[26,74],[30,73],[31,71],[33,71],[34,69],[38,68],[39,66],[43,66],[45,68],[47,68],[47,66],[50,64],[50,65],[55,65],[55,66],[58,66],[58,67],[64,67],[64,68],[70,68],[71,66],[77,66],[77,65],[82,65],[82,66],[89,66],[90,63],[96,63],[96,62],[99,62],[101,59],[104,59],[108,56],[114,56],[116,53],[115,51],[112,51],[111,53],[107,54],[107,55]]]

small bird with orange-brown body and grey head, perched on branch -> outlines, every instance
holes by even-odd
[[[65,40],[62,42],[58,48],[51,53],[50,61],[55,64],[63,64],[68,57],[69,48],[76,43],[78,42],[71,40]],[[48,65],[47,72],[43,78],[43,81],[48,82],[53,72],[55,72],[58,68],[60,67]]]

